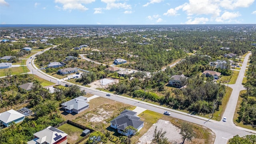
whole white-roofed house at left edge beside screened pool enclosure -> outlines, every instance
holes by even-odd
[[[15,110],[8,110],[6,112],[0,113],[0,124],[8,127],[12,122],[16,124],[22,122],[25,118],[25,115],[15,111]]]

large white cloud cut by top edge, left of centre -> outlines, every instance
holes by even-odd
[[[95,0],[55,0],[56,3],[62,4],[63,10],[88,10],[84,5],[82,4],[90,4],[92,2],[95,2]]]

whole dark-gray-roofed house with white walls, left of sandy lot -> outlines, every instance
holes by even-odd
[[[124,132],[125,128],[127,126],[133,126],[138,131],[140,131],[143,126],[144,122],[140,120],[140,117],[136,116],[137,112],[131,111],[131,110],[124,110],[120,113],[119,116],[114,118],[110,122],[110,127],[117,129],[117,132],[123,135],[128,135]],[[130,134],[133,132],[131,131]]]

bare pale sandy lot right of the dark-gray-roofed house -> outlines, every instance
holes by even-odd
[[[141,138],[139,138],[140,142],[138,142],[138,144],[151,144],[156,126],[157,130],[162,128],[163,131],[166,131],[165,137],[168,138],[171,143],[180,144],[182,142],[182,137],[179,134],[179,128],[172,125],[169,121],[158,120],[156,124],[153,124],[153,126],[151,126],[151,128]]]

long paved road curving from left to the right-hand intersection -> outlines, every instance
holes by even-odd
[[[33,55],[32,58],[34,58],[35,55]],[[214,121],[214,120],[209,120],[208,121],[208,119],[206,119],[206,118],[186,114],[184,112],[178,112],[178,111],[175,111],[175,110],[172,110],[172,109],[169,109],[169,108],[164,108],[162,106],[149,104],[149,103],[146,103],[144,101],[138,101],[138,100],[134,100],[134,99],[131,99],[131,98],[126,98],[126,97],[115,95],[115,94],[112,94],[111,96],[106,96],[106,94],[107,94],[106,92],[96,90],[96,89],[93,89],[93,88],[87,88],[87,87],[84,87],[84,86],[80,86],[80,88],[82,90],[86,90],[86,92],[91,93],[91,94],[95,94],[95,95],[98,95],[98,96],[102,96],[104,98],[109,98],[109,99],[112,99],[112,100],[116,100],[116,101],[119,101],[119,102],[130,104],[130,105],[133,105],[133,106],[139,106],[141,108],[152,110],[154,112],[158,112],[158,113],[161,113],[161,114],[165,110],[168,110],[168,111],[171,112],[171,116],[174,117],[174,118],[179,118],[181,120],[186,120],[188,122],[192,122],[192,123],[195,123],[195,124],[200,124],[202,126],[206,126],[207,128],[210,128],[216,134],[216,139],[215,139],[214,144],[226,144],[228,142],[228,139],[232,138],[236,134],[238,134],[240,136],[245,136],[245,135],[252,134],[251,132],[256,133],[255,131],[252,131],[252,130],[237,128],[236,126],[234,126],[234,124],[232,122],[232,118],[233,118],[233,115],[234,115],[234,109],[236,107],[238,94],[239,94],[240,89],[242,89],[241,87],[243,87],[241,85],[241,83],[242,83],[242,79],[244,77],[244,71],[245,71],[245,68],[246,68],[247,61],[248,61],[248,56],[249,55],[247,55],[246,58],[244,59],[243,66],[240,70],[241,74],[239,74],[239,77],[236,81],[236,84],[229,85],[230,87],[231,86],[234,87],[235,90],[234,90],[234,92],[232,92],[230,101],[228,102],[228,106],[227,106],[227,108],[225,110],[225,113],[224,113],[224,115],[228,117],[227,122],[222,122],[222,121],[217,122],[217,121]],[[28,68],[34,74],[40,76],[41,78],[44,78],[44,79],[46,79],[48,81],[51,81],[51,82],[54,82],[56,84],[64,85],[65,83],[68,83],[68,82],[65,82],[63,80],[59,80],[57,78],[49,76],[49,75],[45,74],[44,72],[42,72],[41,70],[36,69],[36,67],[33,64],[34,60],[31,60],[31,64],[28,64],[29,61],[30,61],[30,59],[28,59],[28,61],[27,61]],[[72,83],[69,83],[69,84],[72,84]]]

